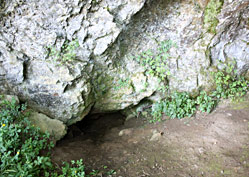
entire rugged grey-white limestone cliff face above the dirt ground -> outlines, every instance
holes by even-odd
[[[91,109],[116,111],[163,97],[163,85],[189,92],[208,88],[217,61],[236,61],[239,73],[247,73],[249,1],[216,2],[2,2],[0,92],[69,125]],[[151,57],[163,55],[157,52],[162,41],[174,43],[164,82],[134,59],[148,50]]]

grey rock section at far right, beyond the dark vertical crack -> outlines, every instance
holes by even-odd
[[[212,62],[236,62],[239,74],[249,69],[249,1],[225,3],[219,16],[217,35],[210,44]]]

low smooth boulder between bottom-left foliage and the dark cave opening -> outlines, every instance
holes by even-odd
[[[34,126],[39,127],[42,132],[48,132],[55,141],[60,140],[67,133],[67,127],[63,122],[51,119],[44,114],[32,111],[29,120]]]

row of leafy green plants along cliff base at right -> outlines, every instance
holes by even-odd
[[[191,97],[186,92],[175,92],[166,99],[154,103],[150,122],[161,121],[163,114],[181,119],[191,117],[197,109],[210,113],[221,98],[236,99],[245,95],[249,90],[249,81],[236,74],[234,64],[228,64],[224,70],[213,73],[216,89],[209,95],[205,91],[201,91],[197,97]]]

